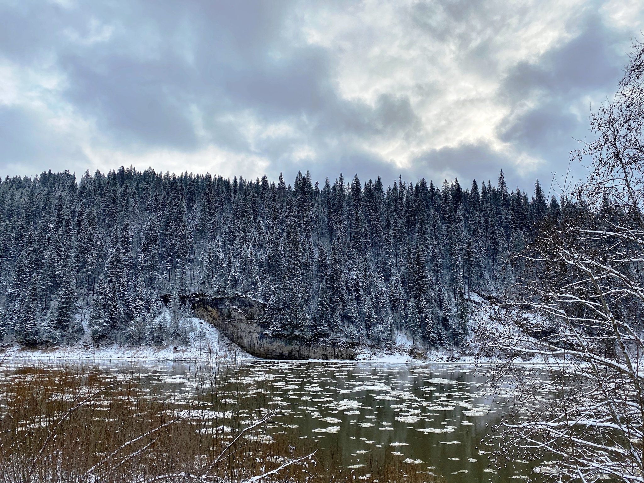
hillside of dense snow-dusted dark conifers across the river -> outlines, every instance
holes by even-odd
[[[267,302],[272,335],[386,346],[459,345],[472,290],[515,279],[511,256],[558,216],[538,182],[503,173],[287,185],[152,169],[68,171],[0,184],[0,336],[24,345],[163,343],[161,295],[242,294]],[[164,319],[165,320],[165,319]]]

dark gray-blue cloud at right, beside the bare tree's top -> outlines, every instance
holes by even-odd
[[[588,134],[591,102],[597,107],[612,95],[627,62],[623,37],[587,15],[582,32],[543,55],[536,64],[521,62],[500,86],[512,106],[498,128],[499,138],[542,157],[553,171],[567,169],[567,153]],[[533,101],[525,109],[524,101]],[[582,170],[573,166],[578,175]]]

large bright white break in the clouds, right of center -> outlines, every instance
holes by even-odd
[[[338,53],[336,81],[343,98],[376,106],[393,93],[408,99],[420,118],[404,140],[393,133],[366,141],[365,149],[408,168],[423,151],[484,142],[515,158],[523,176],[541,160],[497,137],[510,111],[498,99],[500,82],[518,62],[537,61],[569,40],[574,33],[566,24],[581,4],[481,3],[468,17],[455,19],[443,5],[374,1],[350,12],[309,12],[303,32],[308,43]],[[473,59],[482,50],[487,59]]]

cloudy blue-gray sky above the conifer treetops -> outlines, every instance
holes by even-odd
[[[549,187],[642,30],[638,0],[0,0],[0,175]]]

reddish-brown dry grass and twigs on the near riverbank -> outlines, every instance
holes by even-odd
[[[292,429],[269,435],[281,419],[279,408],[264,409],[269,388],[248,397],[234,377],[231,387],[223,375],[234,363],[195,368],[189,393],[150,390],[138,374],[90,365],[6,369],[0,481],[433,481],[384,452],[370,453],[362,468],[339,468],[339,448],[316,451]]]

